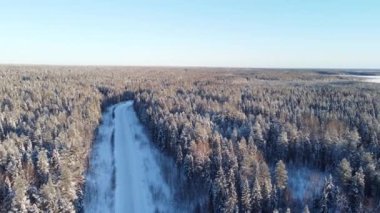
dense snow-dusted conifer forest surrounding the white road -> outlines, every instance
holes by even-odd
[[[353,72],[1,65],[0,212],[85,211],[102,112],[126,100],[195,212],[379,212],[380,84]]]

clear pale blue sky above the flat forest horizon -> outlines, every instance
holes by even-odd
[[[380,68],[380,1],[0,0],[0,63]]]

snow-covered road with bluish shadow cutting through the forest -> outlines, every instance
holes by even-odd
[[[171,212],[173,193],[133,102],[110,107],[103,116],[87,175],[84,211]]]

